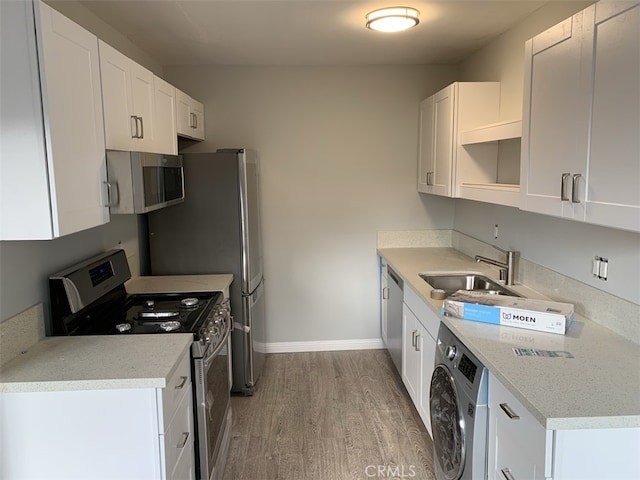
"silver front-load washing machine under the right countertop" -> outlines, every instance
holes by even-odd
[[[487,369],[440,323],[429,404],[438,480],[486,478]]]

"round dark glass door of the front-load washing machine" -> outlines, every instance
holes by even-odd
[[[431,429],[438,480],[458,480],[464,471],[465,420],[451,372],[437,365],[431,377]]]

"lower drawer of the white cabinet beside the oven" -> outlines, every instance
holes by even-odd
[[[190,385],[190,384],[189,384]],[[160,435],[161,443],[164,442],[165,452],[165,468],[167,478],[183,478],[176,477],[175,473],[182,465],[182,457],[192,457],[193,450],[193,395],[191,387],[186,395],[177,406],[175,415],[171,423],[166,428],[165,434]]]

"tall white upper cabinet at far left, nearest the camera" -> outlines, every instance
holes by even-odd
[[[0,240],[105,224],[98,39],[40,2],[0,9]]]

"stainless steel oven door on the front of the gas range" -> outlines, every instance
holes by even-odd
[[[230,322],[228,322],[230,325]],[[218,346],[207,351],[204,358],[194,359],[196,389],[196,424],[198,428],[197,464],[198,478],[209,480],[220,478],[220,467],[226,455],[223,436],[230,427],[227,425],[231,404],[229,382],[229,362],[231,360],[229,330]]]

